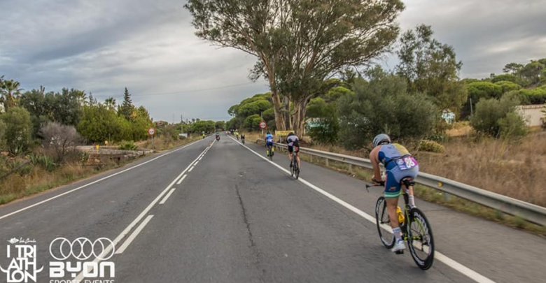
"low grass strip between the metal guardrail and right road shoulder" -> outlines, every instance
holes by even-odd
[[[253,139],[253,141],[255,141],[255,139]],[[517,145],[516,147],[519,148],[519,146]],[[528,145],[526,145],[526,143],[522,143],[521,147],[528,148]],[[313,147],[313,148],[316,149],[316,147]],[[521,148],[519,150],[521,150]],[[535,150],[535,148],[533,148],[533,150]],[[345,152],[344,154],[346,153],[347,152]],[[354,155],[354,152],[352,155]],[[344,164],[342,162],[332,161],[332,160],[328,161],[328,166],[326,166],[325,159],[322,159],[320,157],[312,157],[312,162],[311,162],[311,156],[304,154],[303,152],[300,154],[300,159],[302,159],[303,161],[316,164],[318,166],[329,168],[331,170],[336,170],[340,173],[351,175],[352,177],[356,177],[359,180],[369,181],[372,178],[372,171],[367,168],[361,168],[359,166],[351,166],[351,168],[349,168],[349,164]],[[440,166],[440,165],[442,164],[437,164],[437,166]],[[418,198],[421,198],[425,201],[429,201],[431,203],[438,203],[438,204],[447,206],[449,208],[453,208],[454,210],[465,212],[469,215],[475,215],[478,217],[482,217],[484,219],[489,219],[491,221],[498,222],[500,224],[505,224],[507,226],[512,226],[514,228],[519,228],[521,230],[546,237],[545,226],[540,226],[540,225],[533,224],[531,222],[527,222],[521,217],[507,215],[504,212],[500,212],[499,210],[487,208],[483,205],[473,203],[472,201],[467,201],[464,198],[459,198],[457,196],[449,196],[449,198],[446,198],[442,191],[438,191],[436,189],[425,187],[419,184],[416,185],[416,187],[414,188],[414,194]]]

